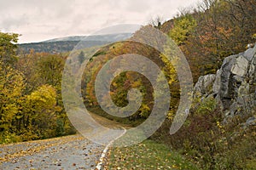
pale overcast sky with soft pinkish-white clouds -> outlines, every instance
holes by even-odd
[[[170,20],[199,0],[0,0],[0,31],[19,42],[90,35],[119,24],[145,25],[156,16]]]

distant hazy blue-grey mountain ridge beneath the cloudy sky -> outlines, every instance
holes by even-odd
[[[18,44],[18,53],[29,53],[31,50],[37,53],[60,54],[72,51],[79,42],[83,42],[84,48],[105,45],[111,42],[125,41],[133,33],[106,34],[94,36],[73,36],[50,39],[44,42],[32,42]]]

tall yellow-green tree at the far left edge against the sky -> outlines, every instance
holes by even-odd
[[[18,41],[18,34],[0,32],[0,132],[12,131],[12,120],[20,111],[20,99],[25,88],[24,77],[15,70],[14,44]]]

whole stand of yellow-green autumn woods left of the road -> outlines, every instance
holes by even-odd
[[[1,32],[1,143],[75,133],[61,101],[65,56],[16,55],[18,35]]]

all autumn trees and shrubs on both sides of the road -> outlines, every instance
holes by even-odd
[[[255,127],[241,130],[241,122],[247,118],[241,116],[222,123],[224,114],[212,98],[196,98],[183,127],[178,133],[169,134],[180,97],[173,65],[168,65],[165,56],[154,48],[132,42],[132,38],[143,38],[148,27],[165,32],[183,51],[197,82],[202,75],[215,74],[224,58],[245,51],[247,44],[256,41],[255,0],[203,0],[195,8],[184,8],[172,20],[156,23],[143,26],[130,41],[112,43],[94,54],[82,80],[84,105],[98,115],[129,126],[145,121],[154,105],[154,91],[143,75],[126,71],[112,82],[111,97],[120,107],[127,105],[129,89],[137,88],[143,94],[143,104],[127,118],[102,111],[94,88],[98,71],[109,59],[121,54],[141,54],[160,66],[172,93],[166,122],[150,139],[168,144],[202,169],[255,168]],[[68,54],[37,53],[40,50],[17,54],[18,38],[18,34],[0,32],[0,143],[76,133],[61,99],[61,77]],[[84,53],[86,49],[78,52],[81,64]],[[255,110],[248,112],[255,115]],[[234,133],[236,140],[232,139]]]

